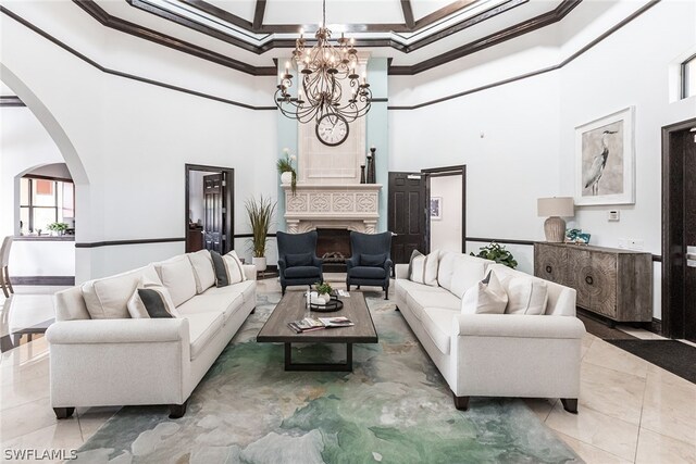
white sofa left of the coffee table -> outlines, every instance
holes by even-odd
[[[134,404],[169,404],[170,417],[184,415],[194,388],[256,306],[256,266],[241,266],[246,280],[220,288],[214,271],[203,271],[183,254],[55,293],[57,322],[46,333],[55,415]],[[126,302],[144,278],[169,290],[177,317],[128,316]],[[120,318],[90,316],[102,317],[95,313],[102,309]]]

